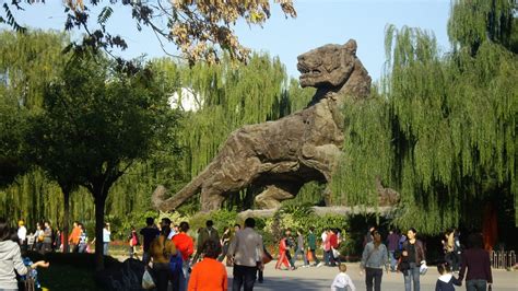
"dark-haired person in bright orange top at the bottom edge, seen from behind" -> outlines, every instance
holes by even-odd
[[[188,291],[226,291],[226,268],[216,259],[221,253],[220,245],[209,240],[201,251],[203,260],[192,268]]]

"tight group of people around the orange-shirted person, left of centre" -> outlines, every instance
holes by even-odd
[[[244,228],[234,225],[234,233],[225,228],[222,236],[208,220],[205,228],[198,230],[196,240],[189,236],[189,223],[172,224],[168,218],[155,225],[153,218],[140,230],[143,237],[142,260],[153,284],[162,290],[227,290],[227,272],[223,260],[233,266],[233,290],[252,290],[257,273],[261,278],[264,252],[262,237],[254,230],[255,220],[245,220]],[[130,248],[134,242],[134,229],[128,237]],[[133,242],[131,242],[133,241]],[[130,255],[134,251],[130,249]],[[144,273],[144,276],[146,276]]]

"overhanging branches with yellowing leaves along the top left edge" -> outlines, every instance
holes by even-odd
[[[22,10],[24,4],[40,4],[45,1],[12,1],[4,3],[4,15],[0,23],[7,23],[17,32],[26,28],[19,24],[12,10]],[[292,0],[274,0],[280,4],[285,16],[295,18],[296,11]],[[158,40],[170,42],[179,48],[191,65],[199,60],[216,62],[222,50],[227,51],[233,60],[248,60],[250,49],[239,44],[233,26],[238,21],[249,25],[262,25],[270,18],[269,0],[248,1],[128,1],[128,0],[67,0],[63,1],[64,30],[79,28],[85,32],[83,43],[76,48],[103,48],[110,50],[114,46],[126,48],[126,40],[106,28],[114,9],[129,8],[137,28],[151,28]],[[96,14],[93,8],[98,8]],[[96,14],[96,15],[95,15]],[[92,20],[93,19],[93,20]]]

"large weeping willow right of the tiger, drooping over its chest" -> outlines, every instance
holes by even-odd
[[[380,95],[345,107],[335,193],[376,205],[379,177],[401,195],[393,223],[429,234],[480,229],[487,206],[516,221],[515,15],[509,0],[455,1],[446,55],[432,33],[388,26]]]

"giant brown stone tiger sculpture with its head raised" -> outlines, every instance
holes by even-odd
[[[231,133],[214,160],[189,184],[164,200],[158,186],[153,206],[173,210],[201,191],[201,210],[219,209],[249,185],[263,186],[256,205],[278,208],[310,181],[329,182],[343,144],[344,98],[368,96],[370,77],[356,57],[356,42],[325,45],[298,56],[303,88],[317,88],[309,105],[275,121],[244,126]]]

